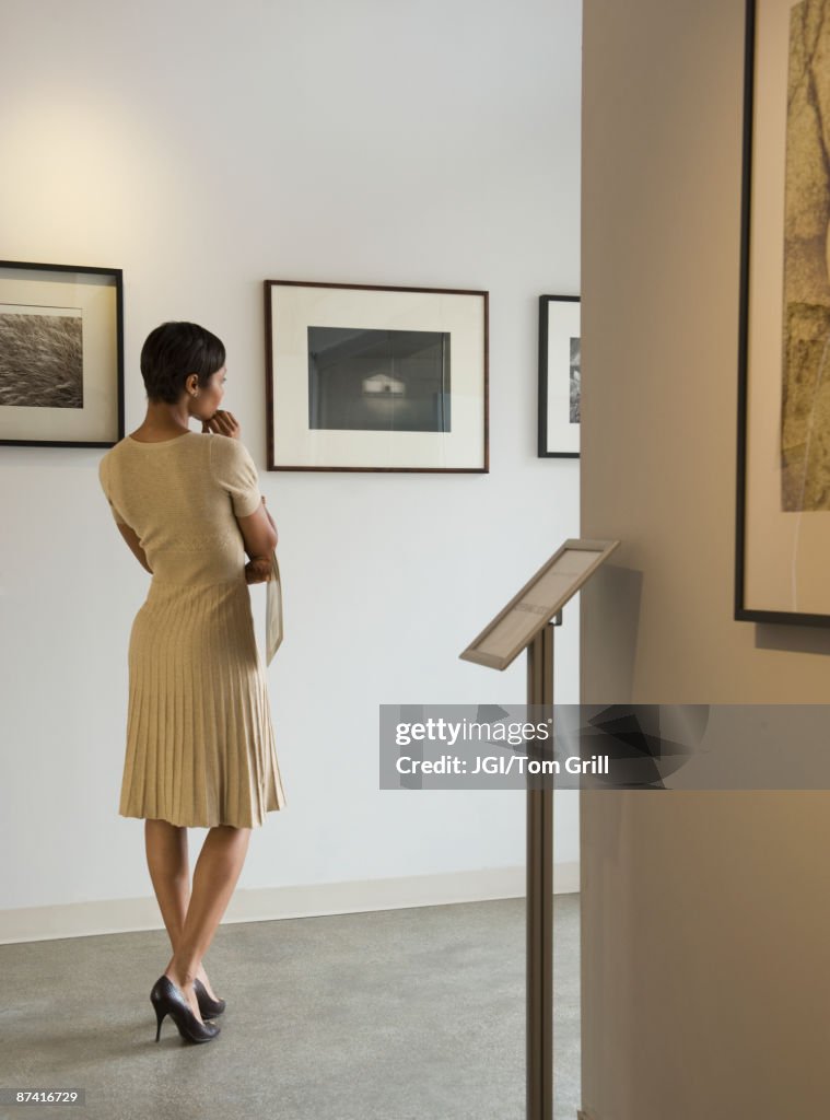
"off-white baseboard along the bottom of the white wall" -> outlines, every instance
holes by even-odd
[[[239,889],[231,899],[223,924],[523,898],[525,875],[525,868],[520,866],[449,875]],[[579,864],[554,865],[553,894],[575,894],[578,890]],[[152,897],[0,911],[0,945],[161,928],[161,917]]]

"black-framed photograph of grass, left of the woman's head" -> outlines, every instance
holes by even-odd
[[[120,269],[0,261],[0,444],[124,435]]]

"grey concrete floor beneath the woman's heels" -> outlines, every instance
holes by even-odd
[[[554,896],[556,1120],[579,1104],[579,896]],[[150,988],[162,932],[0,946],[6,1120],[524,1120],[524,899],[221,926],[194,1046]]]

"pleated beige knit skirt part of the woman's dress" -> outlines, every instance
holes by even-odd
[[[282,808],[244,573],[153,577],[130,633],[129,680],[120,815],[253,828]]]

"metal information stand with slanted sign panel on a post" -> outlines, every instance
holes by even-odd
[[[553,717],[553,626],[619,541],[568,540],[467,646],[464,661],[504,670],[528,651],[528,704]],[[528,790],[528,1120],[553,1116],[553,790]]]

